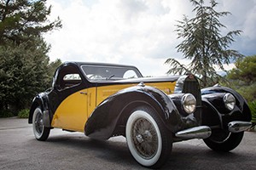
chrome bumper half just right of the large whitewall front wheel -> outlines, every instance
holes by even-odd
[[[183,139],[207,139],[211,136],[212,130],[207,126],[191,127],[175,133],[177,138]]]

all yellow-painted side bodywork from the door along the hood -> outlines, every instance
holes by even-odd
[[[147,86],[159,88],[166,94],[172,94],[176,82],[151,82],[145,83]],[[60,127],[67,130],[84,132],[84,125],[90,114],[109,95],[117,93],[119,90],[136,86],[136,84],[118,84],[102,86],[99,88],[87,88],[71,94],[64,99],[55,111],[52,120],[52,127]]]

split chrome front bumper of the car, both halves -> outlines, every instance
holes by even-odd
[[[252,122],[234,121],[228,124],[230,133],[240,133],[252,126]],[[190,127],[175,133],[178,139],[207,139],[211,136],[212,129],[208,126]]]

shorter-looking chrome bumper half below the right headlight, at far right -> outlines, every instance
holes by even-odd
[[[228,124],[231,133],[240,133],[252,126],[252,122],[233,121]]]

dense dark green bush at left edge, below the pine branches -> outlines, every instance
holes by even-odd
[[[44,42],[37,44],[38,48],[26,43],[0,47],[0,100],[15,111],[29,105],[27,99],[49,84],[49,58],[45,56],[49,48]]]

